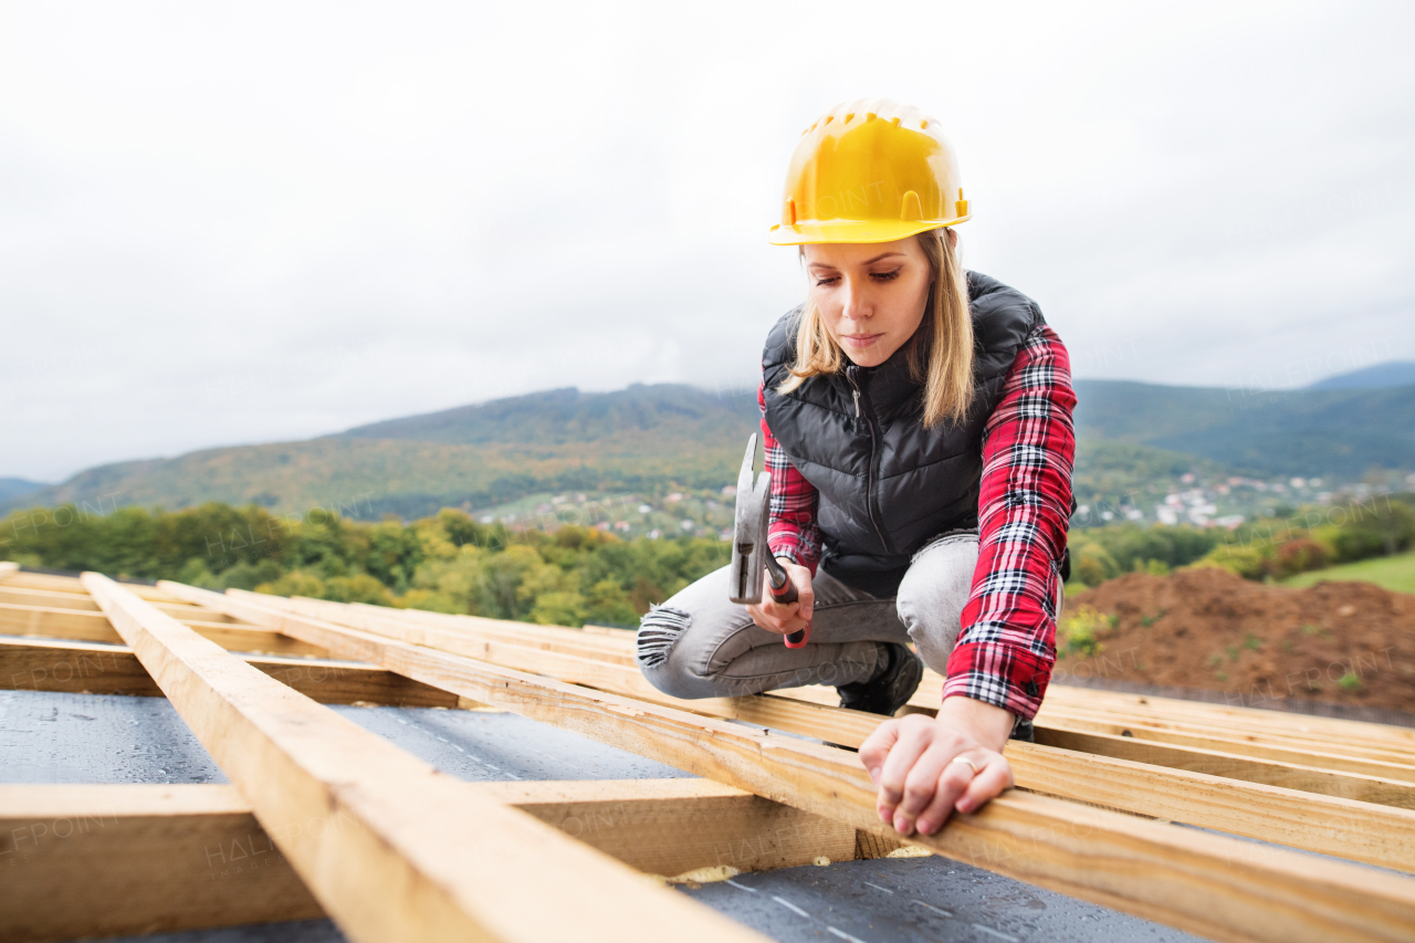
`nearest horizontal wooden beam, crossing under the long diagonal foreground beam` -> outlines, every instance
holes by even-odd
[[[855,855],[853,830],[703,779],[473,789],[664,876]],[[13,943],[324,916],[235,786],[0,786],[0,867],[11,858]]]

